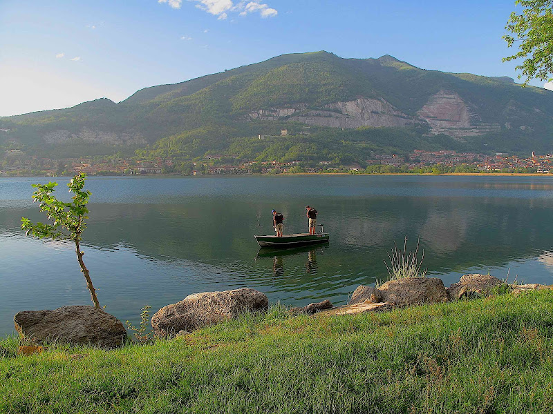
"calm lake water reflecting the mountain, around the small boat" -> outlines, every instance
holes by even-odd
[[[71,245],[24,237],[21,216],[44,220],[31,184],[0,179],[0,334],[28,309],[91,304]],[[57,195],[68,197],[68,179]],[[394,242],[414,249],[446,286],[465,273],[553,284],[550,177],[92,177],[84,260],[102,305],[137,322],[190,293],[252,287],[271,302],[344,304],[359,284],[386,278]],[[319,211],[330,244],[274,255],[255,234],[307,230]]]

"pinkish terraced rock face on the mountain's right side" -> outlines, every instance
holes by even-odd
[[[474,106],[469,106],[457,92],[448,90],[432,95],[417,115],[427,121],[434,135],[462,138],[500,129],[498,124],[483,123]]]

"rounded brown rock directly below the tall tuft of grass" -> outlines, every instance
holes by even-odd
[[[378,288],[382,302],[397,306],[447,302],[444,282],[438,277],[406,277],[390,280]]]

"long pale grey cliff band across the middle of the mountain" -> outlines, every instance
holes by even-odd
[[[289,108],[272,108],[251,112],[249,119],[276,121],[286,119],[303,124],[332,128],[359,128],[362,126],[408,126],[420,120],[397,110],[384,99],[359,98],[355,101],[329,103],[319,109],[306,109],[299,103]]]

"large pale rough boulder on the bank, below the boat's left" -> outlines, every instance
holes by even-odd
[[[269,299],[265,294],[249,288],[196,293],[161,308],[151,318],[151,326],[158,337],[173,336],[180,331],[194,331],[245,311],[260,311],[268,306]]]

